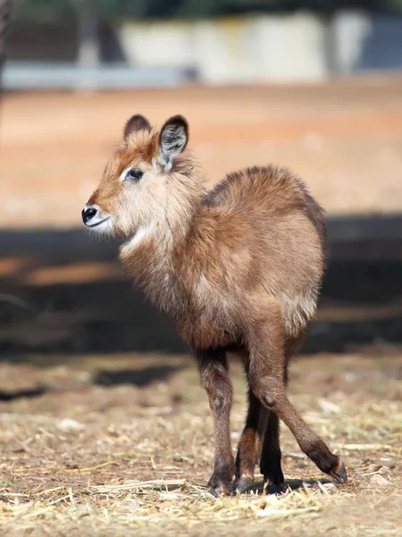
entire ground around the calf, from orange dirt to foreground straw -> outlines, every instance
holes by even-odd
[[[402,534],[401,90],[400,76],[371,76],[4,96],[0,534]],[[328,211],[330,266],[289,393],[342,456],[348,485],[326,479],[283,427],[288,492],[263,496],[257,474],[246,495],[208,495],[213,423],[195,364],[132,293],[115,245],[77,228],[135,113],[155,124],[186,115],[209,184],[286,165]],[[235,446],[245,386],[231,369]]]

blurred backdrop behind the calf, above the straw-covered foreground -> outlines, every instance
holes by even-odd
[[[402,0],[3,0],[5,362],[186,354],[80,211],[132,114],[188,117],[212,185],[275,163],[327,210],[302,352],[402,342]]]

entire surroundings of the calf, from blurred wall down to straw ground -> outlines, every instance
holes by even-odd
[[[0,0],[0,61],[3,534],[401,534],[402,0]],[[138,113],[185,115],[211,186],[285,165],[326,209],[328,269],[289,393],[352,488],[209,505],[195,361],[118,245],[81,223]],[[247,401],[230,371],[235,446]],[[317,488],[286,427],[281,447],[288,485]]]

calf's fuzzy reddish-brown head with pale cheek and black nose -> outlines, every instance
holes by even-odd
[[[139,228],[173,226],[180,211],[189,210],[195,183],[192,158],[184,151],[187,141],[188,124],[181,115],[168,119],[160,130],[143,115],[133,115],[82,210],[84,224],[124,238]]]

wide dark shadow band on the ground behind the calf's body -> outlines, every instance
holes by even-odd
[[[402,343],[402,217],[330,218],[329,236],[321,307],[303,351]],[[0,232],[3,358],[188,352],[122,275],[116,251],[80,229]]]

